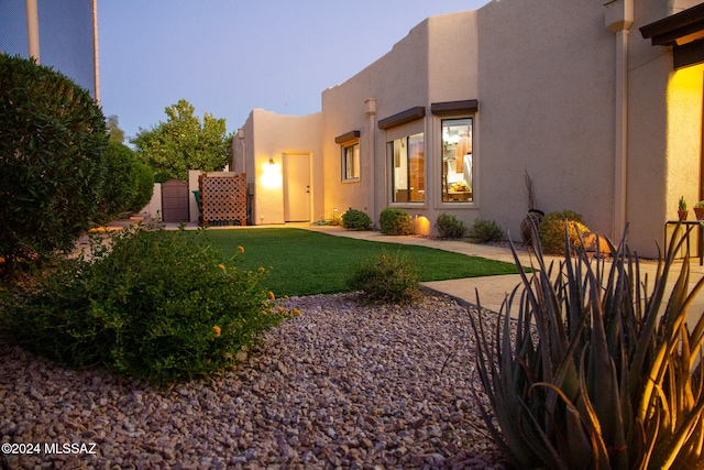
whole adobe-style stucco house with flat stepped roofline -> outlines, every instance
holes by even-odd
[[[657,255],[678,200],[704,199],[704,3],[501,0],[431,17],[322,91],[320,113],[255,109],[233,142],[252,222],[337,209],[494,219],[520,239],[528,209],[574,210]],[[693,216],[691,215],[690,218]]]

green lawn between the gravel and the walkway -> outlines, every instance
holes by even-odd
[[[515,265],[483,258],[400,243],[383,243],[336,237],[293,228],[209,230],[213,244],[226,256],[245,252],[240,267],[271,269],[266,287],[277,296],[349,292],[354,267],[382,250],[405,253],[419,269],[421,281],[516,274]]]

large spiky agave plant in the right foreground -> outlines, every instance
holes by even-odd
[[[570,470],[704,468],[704,316],[693,330],[684,323],[704,280],[688,292],[689,253],[664,303],[685,239],[659,256],[649,292],[626,234],[618,249],[608,242],[612,262],[565,250],[554,273],[534,234],[537,267],[525,274],[514,250],[522,283],[493,336],[481,319],[472,323],[492,409],[477,403],[508,460]]]

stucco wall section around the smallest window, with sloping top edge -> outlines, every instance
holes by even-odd
[[[425,106],[428,95],[428,20],[414,28],[394,48],[342,85],[322,92],[324,128],[324,214],[338,208],[363,210],[372,220],[388,201],[384,131],[377,119],[414,106]],[[376,99],[376,114],[367,116],[365,101]],[[359,182],[342,182],[341,147],[334,139],[360,131]]]

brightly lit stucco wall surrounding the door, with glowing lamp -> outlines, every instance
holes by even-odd
[[[282,174],[285,153],[310,155],[311,217],[323,214],[322,113],[282,116],[254,109],[242,129],[243,142],[233,144],[233,170],[246,173],[253,197],[252,222],[270,225],[285,221]],[[235,135],[234,140],[239,138]],[[270,160],[274,161],[273,165]]]

